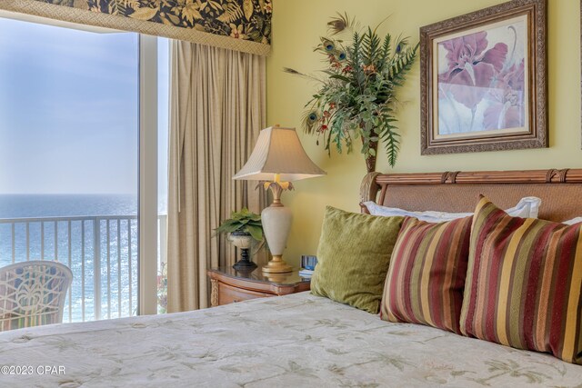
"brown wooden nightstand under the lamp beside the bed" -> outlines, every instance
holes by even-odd
[[[208,276],[212,284],[210,304],[213,307],[310,289],[310,279],[299,276],[298,271],[263,274],[259,267],[252,272],[241,273],[232,267],[223,267],[208,271]]]

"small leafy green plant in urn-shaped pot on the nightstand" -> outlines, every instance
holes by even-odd
[[[253,241],[263,241],[263,224],[260,214],[243,207],[239,212],[232,212],[230,218],[216,228],[216,234],[227,234],[227,240],[241,250],[241,259],[233,265],[237,271],[251,270],[256,264],[250,260],[248,251]]]

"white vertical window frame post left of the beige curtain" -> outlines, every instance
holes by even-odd
[[[139,315],[157,313],[157,38],[139,36]]]

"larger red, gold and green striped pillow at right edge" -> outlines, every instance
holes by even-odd
[[[487,198],[471,231],[461,331],[582,364],[582,224],[507,215]]]

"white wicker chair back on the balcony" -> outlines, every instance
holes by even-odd
[[[0,268],[0,332],[63,322],[71,270],[60,263],[30,261]]]

